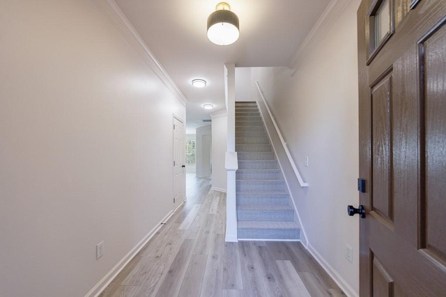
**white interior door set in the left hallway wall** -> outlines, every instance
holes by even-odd
[[[184,124],[174,118],[174,209],[185,199]]]

